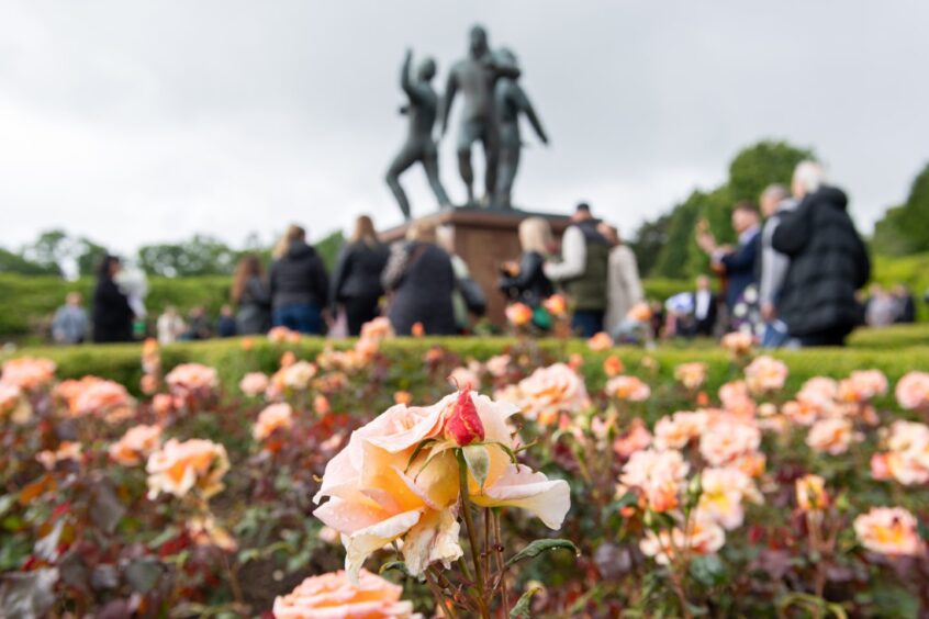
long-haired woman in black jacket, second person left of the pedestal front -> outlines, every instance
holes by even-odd
[[[378,316],[378,301],[383,294],[381,273],[388,260],[388,249],[378,238],[368,215],[355,222],[355,234],[339,252],[329,300],[333,315],[338,305],[345,310],[348,335],[361,333],[361,325]]]

